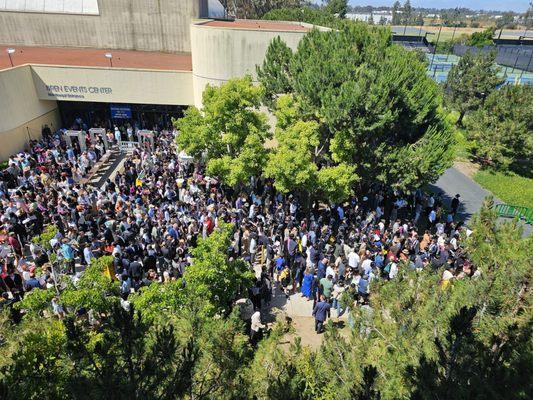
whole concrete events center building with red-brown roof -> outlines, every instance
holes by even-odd
[[[312,29],[224,14],[218,0],[0,0],[0,160],[44,125],[201,106],[205,85],[255,77],[274,37],[294,49]]]

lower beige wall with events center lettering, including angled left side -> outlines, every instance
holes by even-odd
[[[194,104],[192,72],[25,65],[0,71],[0,160],[60,128],[56,100]]]

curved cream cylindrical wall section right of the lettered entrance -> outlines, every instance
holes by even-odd
[[[191,24],[191,51],[196,106],[202,104],[207,84],[220,85],[231,78],[252,75],[262,64],[272,39],[280,36],[293,50],[305,36],[305,31],[227,28]]]

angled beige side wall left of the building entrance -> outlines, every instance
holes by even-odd
[[[31,67],[0,71],[0,160],[40,138],[45,124],[59,128],[57,102],[38,98]]]

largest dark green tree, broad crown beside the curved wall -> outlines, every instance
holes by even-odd
[[[281,65],[278,46],[259,68],[269,71],[259,75],[267,88],[284,73],[272,72]],[[439,87],[416,53],[392,44],[389,30],[362,23],[313,30],[299,43],[287,80],[301,119],[319,125],[325,164],[353,166],[363,183],[401,189],[431,182],[450,165]]]

